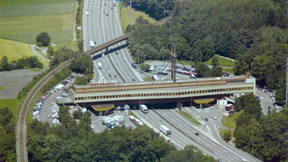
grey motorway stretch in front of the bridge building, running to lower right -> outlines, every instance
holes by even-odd
[[[165,120],[163,119],[161,121],[161,117],[153,110],[149,110],[148,114],[144,114],[139,110],[132,110],[141,121],[155,131],[159,132],[160,125],[165,125],[170,128],[172,136],[165,136],[165,139],[171,140],[171,143],[177,146],[177,148],[182,149],[186,145],[191,144],[197,146],[204,154],[213,156],[215,159],[220,158],[222,161],[241,161],[242,158],[247,159],[247,161],[258,161],[253,159],[251,155],[227,145],[220,139],[218,132],[214,134],[205,133],[202,128],[187,121],[187,119],[176,112],[175,109],[157,109],[156,111],[161,114]],[[173,125],[166,122],[167,120]],[[219,121],[211,120],[209,122],[213,125],[214,122]],[[196,132],[199,133],[199,136],[195,135]]]

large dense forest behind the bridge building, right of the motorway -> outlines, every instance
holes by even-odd
[[[284,104],[288,57],[288,1],[284,0],[201,0],[201,1],[136,1],[135,8],[152,14],[174,4],[168,22],[162,26],[138,21],[136,31],[128,39],[131,55],[144,61],[170,58],[170,44],[176,45],[178,60],[203,63],[214,54],[238,61],[235,75],[256,78],[260,86],[277,91],[277,102]],[[164,3],[165,2],[165,3]],[[147,3],[147,4],[144,4]],[[148,7],[145,7],[147,6]],[[167,10],[169,9],[167,4]],[[151,14],[150,14],[151,13]],[[158,11],[156,11],[158,13]],[[163,13],[163,12],[162,12]],[[170,23],[171,36],[170,36]],[[137,24],[138,23],[138,24]],[[164,47],[164,48],[163,48]],[[197,62],[198,60],[198,62]],[[248,66],[249,65],[249,66]],[[219,66],[219,65],[218,65]]]

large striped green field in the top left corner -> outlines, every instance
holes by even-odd
[[[23,2],[27,3],[23,3]],[[43,3],[45,2],[45,3]],[[61,3],[52,3],[61,2]],[[36,43],[36,35],[48,32],[51,43],[73,39],[76,1],[0,1],[0,38]]]

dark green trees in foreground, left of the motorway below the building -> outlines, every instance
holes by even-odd
[[[89,113],[69,114],[68,109],[65,106],[59,109],[62,125],[50,127],[47,122],[33,121],[28,126],[29,161],[215,161],[195,146],[177,150],[147,126],[136,129],[122,126],[94,133]]]

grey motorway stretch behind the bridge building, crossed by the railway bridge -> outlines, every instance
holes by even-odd
[[[89,16],[86,16],[83,12],[83,40],[85,51],[90,49],[89,41],[96,41],[96,46],[122,35],[118,17],[118,7],[113,6],[113,1],[107,1],[105,3],[107,5],[104,5],[103,1],[102,3],[101,1],[92,0],[84,2],[83,10],[89,10]],[[116,52],[118,52],[118,55],[116,55]],[[102,57],[102,53],[105,54],[105,57]],[[139,75],[139,70],[131,67],[131,62],[133,61],[124,41],[92,54],[92,58],[94,60],[93,66],[95,73],[93,83],[99,80],[114,79],[117,80],[117,82],[133,82],[133,78],[135,81],[143,81]],[[126,60],[124,60],[124,58],[126,58]],[[97,68],[98,62],[102,64],[102,69]],[[111,77],[109,74],[111,74]],[[114,75],[117,75],[117,77],[114,77]]]

